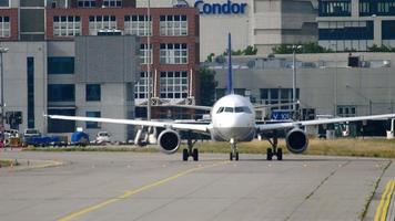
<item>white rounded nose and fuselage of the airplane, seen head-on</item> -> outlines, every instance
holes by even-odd
[[[211,110],[211,135],[219,141],[250,141],[255,135],[255,110],[243,96],[231,94],[220,98]]]

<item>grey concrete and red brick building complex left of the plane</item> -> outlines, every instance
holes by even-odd
[[[126,126],[42,115],[146,117],[148,63],[153,106],[194,104],[199,43],[194,8],[152,8],[149,17],[135,0],[0,0],[6,128],[83,127],[91,137],[108,130],[114,140],[131,139]],[[166,115],[154,107],[152,117]]]

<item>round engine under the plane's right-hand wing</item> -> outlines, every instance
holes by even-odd
[[[302,154],[307,149],[308,138],[306,133],[300,128],[294,128],[285,137],[286,147],[293,154]]]

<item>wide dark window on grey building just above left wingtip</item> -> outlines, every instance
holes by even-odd
[[[75,86],[73,84],[49,84],[48,102],[75,102]]]

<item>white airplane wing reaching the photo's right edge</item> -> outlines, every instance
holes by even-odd
[[[331,119],[313,119],[313,120],[303,120],[303,122],[262,124],[262,125],[256,125],[256,129],[273,130],[273,129],[293,128],[293,127],[298,127],[298,126],[324,125],[324,124],[334,124],[334,123],[343,123],[343,122],[361,122],[361,120],[367,120],[367,119],[389,119],[389,118],[395,118],[395,114],[369,115],[369,116],[359,116],[359,117],[337,117],[337,118],[331,118]]]

